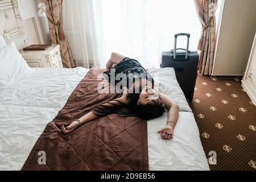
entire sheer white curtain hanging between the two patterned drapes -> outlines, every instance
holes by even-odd
[[[201,31],[192,0],[65,0],[63,27],[77,65],[96,67],[118,52],[158,68],[174,34],[190,33],[189,49],[196,50]],[[177,47],[186,41],[179,38]]]

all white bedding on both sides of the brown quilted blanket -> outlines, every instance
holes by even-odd
[[[0,170],[22,168],[47,123],[65,105],[87,72],[88,69],[81,67],[35,68],[32,75],[0,92]],[[195,118],[191,112],[186,112],[191,109],[184,95],[177,93],[181,90],[177,88],[173,69],[150,72],[160,73],[160,91],[174,97],[181,105],[172,140],[162,140],[156,133],[161,125],[164,126],[167,113],[148,121],[150,170],[209,170]]]

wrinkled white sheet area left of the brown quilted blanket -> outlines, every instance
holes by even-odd
[[[0,170],[20,170],[47,123],[89,69],[35,68],[0,92]]]

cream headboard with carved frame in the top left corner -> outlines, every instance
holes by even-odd
[[[0,0],[0,35],[7,44],[23,35],[17,0]]]

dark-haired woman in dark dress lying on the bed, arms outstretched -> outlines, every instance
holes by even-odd
[[[104,115],[118,113],[123,115],[134,115],[142,119],[154,119],[163,114],[165,107],[168,111],[168,121],[166,127],[160,129],[158,133],[162,139],[172,139],[174,136],[174,127],[179,115],[179,106],[166,94],[159,92],[154,85],[154,80],[149,73],[142,67],[137,60],[130,59],[118,53],[112,53],[106,68],[109,71],[104,72],[111,82],[111,75],[114,73],[114,84],[120,83],[116,79],[118,74],[126,75],[126,80],[122,79],[122,96],[115,100],[96,106],[88,114],[80,119],[73,121],[69,126],[61,127],[63,133],[67,134],[75,130],[76,127],[92,121]],[[139,77],[138,77],[139,75]],[[143,76],[144,77],[143,77]],[[121,85],[122,85],[121,84]],[[138,92],[136,92],[138,90]]]

